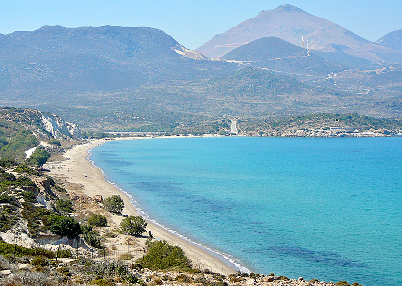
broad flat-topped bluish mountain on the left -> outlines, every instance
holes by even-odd
[[[237,69],[203,60],[165,32],[148,27],[44,26],[1,36],[0,50],[0,88],[31,93],[124,90]]]

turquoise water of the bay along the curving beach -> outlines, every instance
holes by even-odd
[[[251,271],[402,285],[400,137],[130,140],[92,153],[150,218]]]

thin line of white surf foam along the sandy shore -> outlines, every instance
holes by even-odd
[[[104,143],[102,143],[102,144],[104,144]],[[102,145],[102,144],[101,144],[101,145]],[[98,146],[100,146],[100,145],[98,145]],[[95,147],[97,147],[97,146],[95,146]],[[95,147],[94,147],[94,148],[95,148]],[[250,273],[250,272],[251,272],[251,270],[249,270],[247,267],[242,266],[242,265],[240,264],[240,261],[236,260],[232,255],[227,254],[227,253],[221,253],[221,252],[219,252],[219,251],[217,251],[217,250],[213,250],[212,248],[209,248],[209,247],[207,247],[207,246],[205,246],[205,245],[202,245],[201,243],[197,243],[197,242],[191,240],[190,238],[187,238],[186,236],[184,236],[184,235],[178,233],[177,231],[174,231],[174,230],[170,229],[169,227],[167,227],[167,226],[165,226],[165,225],[163,225],[163,224],[157,222],[156,220],[151,219],[150,216],[149,216],[147,213],[145,213],[145,212],[139,207],[139,203],[133,198],[133,196],[132,196],[131,194],[129,194],[128,192],[126,192],[126,191],[124,191],[123,189],[121,189],[116,183],[113,183],[113,182],[109,181],[109,180],[108,180],[108,175],[106,175],[106,173],[102,170],[102,168],[100,168],[100,167],[98,167],[98,166],[95,165],[95,162],[94,162],[92,159],[90,159],[90,157],[92,156],[92,152],[91,152],[92,150],[93,150],[93,148],[91,148],[91,149],[89,149],[89,150],[87,151],[89,155],[87,156],[86,159],[91,162],[91,165],[93,165],[95,168],[98,168],[98,169],[101,171],[102,175],[103,175],[104,178],[105,178],[105,181],[107,181],[108,183],[112,184],[112,185],[115,186],[119,191],[123,192],[126,196],[128,196],[128,198],[130,199],[130,203],[131,203],[131,204],[133,205],[133,207],[137,210],[137,212],[139,213],[139,215],[141,215],[145,220],[156,224],[157,226],[159,226],[159,227],[161,227],[161,228],[163,228],[163,229],[169,231],[170,233],[174,234],[175,236],[177,236],[177,237],[179,237],[179,238],[182,238],[182,239],[186,240],[187,242],[190,242],[190,243],[192,243],[192,244],[194,244],[194,245],[197,245],[198,247],[200,247],[200,248],[203,249],[203,250],[206,250],[207,252],[212,252],[213,254],[216,254],[216,256],[217,256],[218,259],[220,259],[220,260],[223,261],[224,263],[225,263],[225,262],[226,262],[226,263],[229,262],[232,266],[234,266],[234,267],[235,267],[237,270],[239,270],[240,272],[245,272],[245,273]],[[225,263],[225,264],[226,264],[226,263]]]

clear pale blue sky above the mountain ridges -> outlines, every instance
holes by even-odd
[[[402,0],[288,0],[375,41],[402,29]],[[282,0],[1,0],[0,33],[33,31],[44,25],[149,26],[170,34],[187,48],[198,48],[261,10]]]

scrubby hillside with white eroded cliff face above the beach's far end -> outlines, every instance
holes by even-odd
[[[39,140],[56,138],[63,141],[81,139],[79,127],[62,117],[33,109],[0,109],[0,118],[30,129]]]

